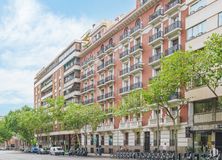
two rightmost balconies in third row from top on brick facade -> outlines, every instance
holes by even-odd
[[[150,65],[156,64],[157,62],[159,62],[159,60],[161,59],[162,56],[169,56],[169,55],[173,54],[174,52],[181,50],[181,49],[182,49],[182,46],[177,44],[177,45],[174,45],[173,47],[170,47],[167,50],[165,50],[165,54],[156,53],[155,55],[153,55],[149,58],[149,64]]]

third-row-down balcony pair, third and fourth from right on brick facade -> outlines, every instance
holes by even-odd
[[[143,63],[139,62],[139,63],[133,64],[130,67],[126,67],[122,69],[120,71],[120,76],[121,77],[127,76],[129,74],[134,74],[135,72],[142,71],[142,70],[143,70]]]

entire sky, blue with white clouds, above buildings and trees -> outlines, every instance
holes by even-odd
[[[92,24],[135,0],[0,0],[0,116],[33,105],[35,74]]]

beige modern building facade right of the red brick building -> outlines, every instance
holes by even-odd
[[[222,1],[221,0],[187,0],[189,15],[186,18],[186,49],[199,50],[212,33],[222,34]],[[185,94],[190,98],[189,126],[192,137],[190,146],[200,151],[202,146],[222,149],[222,111],[216,107],[215,95],[206,86],[191,84]],[[222,96],[221,86],[216,93]]]

